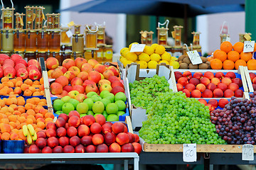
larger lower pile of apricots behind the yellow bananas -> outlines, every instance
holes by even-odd
[[[49,113],[46,99],[37,97],[25,98],[10,95],[9,98],[0,99],[0,138],[1,140],[26,140],[23,135],[23,125],[31,124],[36,132],[46,128],[54,119]]]

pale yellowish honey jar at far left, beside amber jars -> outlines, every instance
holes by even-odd
[[[3,51],[13,51],[14,50],[14,31],[13,30],[3,30],[1,35],[2,39],[2,50]]]

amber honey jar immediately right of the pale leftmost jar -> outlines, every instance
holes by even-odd
[[[14,51],[24,51],[25,50],[25,31],[16,30],[14,33]]]

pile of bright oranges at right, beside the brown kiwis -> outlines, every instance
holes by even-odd
[[[248,69],[256,69],[256,60],[252,58],[252,52],[243,52],[244,43],[225,41],[220,45],[220,50],[213,52],[213,57],[208,57],[212,69],[238,69],[239,66],[247,66]],[[254,51],[256,51],[256,43]]]

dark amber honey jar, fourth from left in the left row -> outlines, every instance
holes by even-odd
[[[37,35],[38,52],[46,52],[49,50],[49,35],[46,30],[40,30]]]

